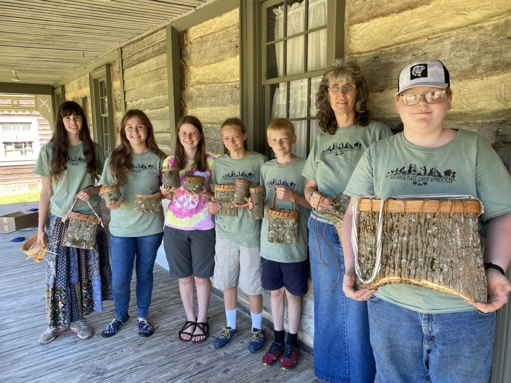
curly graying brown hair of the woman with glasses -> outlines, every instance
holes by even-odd
[[[367,101],[369,100],[369,88],[362,76],[360,66],[355,61],[343,61],[335,59],[327,70],[324,71],[321,83],[316,92],[316,116],[321,130],[328,134],[334,134],[337,127],[337,120],[330,105],[328,87],[332,83],[355,81],[357,86],[357,99],[355,101],[355,118],[353,124],[367,126],[371,121]]]

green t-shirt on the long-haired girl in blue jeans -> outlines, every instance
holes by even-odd
[[[151,151],[143,154],[131,154],[132,173],[121,186],[123,202],[119,209],[110,210],[110,233],[118,237],[140,237],[161,233],[164,227],[164,214],[161,211],[144,213],[135,209],[135,194],[153,194],[160,187],[161,159]],[[100,183],[112,185],[115,181],[108,169],[108,157]]]

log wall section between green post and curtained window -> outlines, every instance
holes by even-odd
[[[182,115],[197,116],[206,150],[223,154],[220,126],[240,115],[240,21],[233,9],[179,33]]]

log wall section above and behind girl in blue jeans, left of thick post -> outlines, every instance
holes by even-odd
[[[141,109],[149,117],[159,148],[170,153],[169,95],[165,29],[122,48],[126,110]]]

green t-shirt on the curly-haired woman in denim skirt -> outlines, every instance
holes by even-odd
[[[316,181],[319,192],[334,198],[344,192],[358,160],[369,145],[390,136],[390,129],[376,121],[371,121],[367,126],[350,125],[339,128],[334,134],[320,132],[314,139],[301,174]],[[312,209],[311,217],[316,218],[316,209]],[[328,218],[320,213],[317,214],[317,219],[331,224]]]

